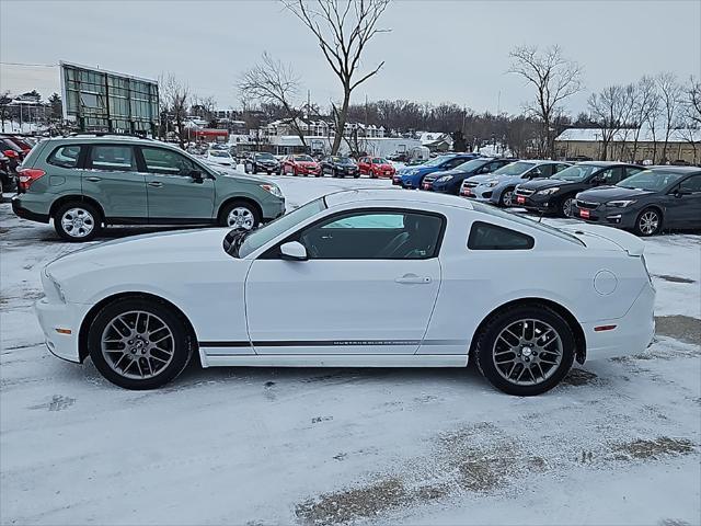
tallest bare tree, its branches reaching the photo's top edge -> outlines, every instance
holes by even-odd
[[[367,73],[360,73],[360,57],[378,33],[390,30],[377,23],[390,0],[281,0],[312,34],[333,72],[343,87],[341,107],[332,104],[336,135],[332,153],[338,152],[348,116],[350,94],[363,82],[377,75],[384,61]]]

